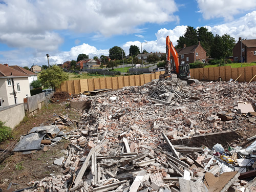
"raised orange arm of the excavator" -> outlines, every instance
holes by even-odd
[[[174,65],[170,63],[170,55],[174,57]],[[168,73],[170,71],[175,71],[176,74],[179,74],[179,55],[175,50],[172,41],[170,41],[169,36],[166,37],[166,65],[168,66]]]

